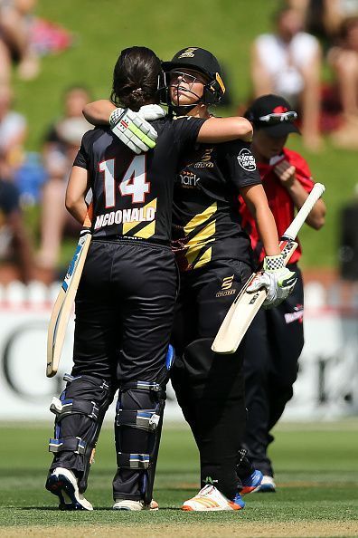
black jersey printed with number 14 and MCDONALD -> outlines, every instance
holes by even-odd
[[[83,136],[74,166],[89,171],[93,237],[147,239],[168,244],[174,178],[184,151],[193,148],[204,120],[155,120],[155,149],[136,155],[109,127]]]

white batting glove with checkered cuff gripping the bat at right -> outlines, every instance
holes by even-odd
[[[265,288],[268,295],[263,303],[263,307],[273,308],[287,299],[296,283],[296,273],[285,267],[282,255],[266,256],[263,263],[263,271],[257,274],[252,283],[250,283],[247,291],[254,293]]]

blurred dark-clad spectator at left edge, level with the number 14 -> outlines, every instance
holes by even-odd
[[[33,278],[33,253],[19,206],[19,192],[7,178],[8,165],[0,152],[0,282]]]

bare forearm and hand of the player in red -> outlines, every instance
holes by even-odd
[[[308,197],[308,192],[297,179],[296,168],[286,159],[278,163],[274,168],[275,174],[283,187],[287,189],[292,202],[300,209]],[[316,201],[310,214],[306,218],[306,224],[319,230],[325,224],[325,202],[320,198]]]

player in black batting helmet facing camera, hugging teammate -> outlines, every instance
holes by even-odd
[[[210,121],[208,107],[224,92],[220,65],[212,53],[188,47],[172,62],[164,62],[163,68],[169,109],[178,118],[188,114],[187,120]],[[86,106],[86,117],[104,121],[110,110],[106,112],[101,101],[92,103]],[[201,491],[183,508],[240,510],[244,503],[236,467],[245,424],[242,350],[230,360],[211,351],[222,319],[252,273],[238,193],[252,208],[266,246],[269,302],[286,297],[296,279],[281,264],[276,227],[249,141],[193,145],[182,163],[174,185],[172,248],[181,271],[181,291],[172,336],[176,350],[172,380],[200,451],[202,476]],[[259,480],[260,474],[250,467],[242,481],[244,491],[259,485]]]

